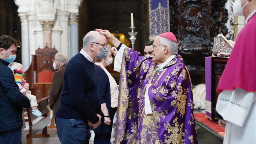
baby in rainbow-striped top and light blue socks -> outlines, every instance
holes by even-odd
[[[21,93],[23,93],[29,100],[30,105],[32,108],[32,114],[41,117],[42,113],[37,109],[37,102],[36,97],[34,95],[31,95],[31,91],[26,91],[22,86],[26,83],[26,80],[23,78],[24,72],[23,72],[23,66],[20,63],[10,63],[8,67],[13,71],[14,79],[19,86],[19,90]]]

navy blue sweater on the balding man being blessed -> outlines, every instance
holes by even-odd
[[[78,53],[67,63],[56,118],[87,120],[97,123],[100,111],[98,71],[95,64]]]

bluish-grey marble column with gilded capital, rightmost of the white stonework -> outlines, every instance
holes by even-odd
[[[71,14],[70,20],[70,49],[69,57],[72,58],[78,53],[78,13]]]

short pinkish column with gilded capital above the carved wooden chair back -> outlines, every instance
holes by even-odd
[[[53,22],[41,22],[44,34],[44,47],[47,45],[51,48],[51,30]]]

